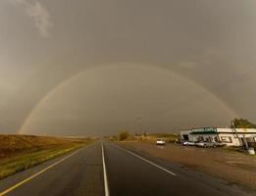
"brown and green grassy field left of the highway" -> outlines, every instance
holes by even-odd
[[[86,138],[0,134],[0,179],[91,142]]]

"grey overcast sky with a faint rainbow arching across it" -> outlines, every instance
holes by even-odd
[[[256,122],[255,0],[1,0],[0,133]]]

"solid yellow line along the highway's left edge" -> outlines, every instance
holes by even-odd
[[[80,150],[81,150],[81,149],[80,149]],[[67,157],[65,157],[65,158],[63,158],[63,159],[61,159],[61,160],[59,160],[58,162],[54,163],[53,165],[48,166],[47,168],[43,169],[43,170],[40,171],[40,172],[36,172],[35,174],[33,174],[33,175],[27,177],[26,179],[24,179],[23,181],[21,181],[21,182],[15,184],[15,185],[11,186],[10,188],[4,190],[3,192],[0,193],[0,196],[6,195],[7,193],[9,193],[9,192],[11,192],[12,190],[16,189],[17,187],[19,187],[19,186],[25,184],[27,181],[31,180],[32,178],[36,177],[37,175],[41,174],[42,172],[46,172],[46,171],[50,170],[50,169],[53,168],[54,166],[56,166],[56,165],[62,163],[63,161],[69,159],[70,157],[74,156],[74,155],[77,154],[77,152],[79,152],[80,150],[77,150],[76,152],[72,153],[71,155],[69,155],[69,156],[67,156]]]

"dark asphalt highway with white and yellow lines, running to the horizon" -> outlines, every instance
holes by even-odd
[[[0,180],[0,196],[3,195],[247,194],[223,180],[103,141]]]

